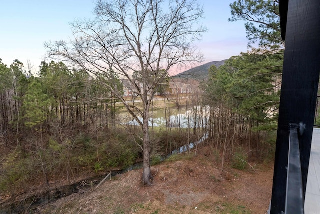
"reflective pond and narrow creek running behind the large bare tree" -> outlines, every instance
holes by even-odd
[[[177,113],[177,110],[173,110],[171,112],[175,112],[176,114],[170,115],[168,119],[166,119],[164,116],[161,116],[164,114],[163,111],[159,112],[157,111],[155,114],[156,117],[150,118],[148,121],[149,126],[154,127],[180,127],[180,128],[201,128],[203,126],[206,126],[208,123],[209,118],[209,107],[201,107],[200,106],[194,106],[193,108],[190,108],[190,110],[182,109],[180,112],[184,113]],[[201,113],[200,113],[201,112]],[[139,120],[143,122],[142,117],[139,117]],[[133,119],[129,120],[125,124],[128,125],[138,125],[138,122]],[[194,148],[197,144],[202,143],[204,140],[208,138],[208,133],[205,133],[197,142],[192,142],[187,145],[181,146],[171,152],[171,154],[176,153],[183,153],[188,151],[189,149]],[[171,155],[170,154],[170,155]],[[166,156],[165,158],[169,157],[170,155]],[[165,159],[163,158],[163,160]],[[128,170],[141,168],[142,163],[135,164],[131,167],[129,167],[126,170],[122,171],[113,171],[112,176],[123,173]],[[87,191],[90,188],[92,188],[91,185],[96,186],[106,175],[87,178],[86,180],[76,182],[70,185],[61,186],[59,188],[51,189],[47,192],[41,193],[39,195],[32,195],[28,198],[26,198],[23,201],[17,201],[10,204],[2,204],[0,214],[6,214],[6,213],[21,213],[25,212],[25,210],[28,211],[34,211],[36,212],[36,209],[38,206],[54,202],[59,198],[66,197],[70,194],[81,192],[81,191]]]

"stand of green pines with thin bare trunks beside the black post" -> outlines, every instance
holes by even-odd
[[[202,87],[212,107],[210,136],[216,148],[234,152],[234,145],[244,146],[251,157],[273,154],[282,60],[281,52],[242,53],[219,68],[211,66]]]

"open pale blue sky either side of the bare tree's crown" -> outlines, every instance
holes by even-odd
[[[203,63],[220,61],[247,50],[244,22],[229,22],[229,4],[234,0],[200,0],[203,24],[208,31],[196,43]],[[38,71],[44,59],[44,42],[72,38],[69,23],[93,18],[94,0],[0,0],[0,58],[8,66],[18,59]]]

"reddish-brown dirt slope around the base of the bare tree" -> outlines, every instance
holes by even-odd
[[[96,190],[79,192],[38,208],[39,213],[266,213],[273,164],[255,171],[232,169],[201,150],[152,166],[153,184],[141,184],[142,169],[112,177]],[[251,165],[254,165],[252,163]],[[271,166],[272,165],[272,166]]]

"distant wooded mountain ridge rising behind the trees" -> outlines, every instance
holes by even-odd
[[[186,70],[182,73],[179,73],[174,77],[204,80],[208,76],[208,70],[211,65],[215,65],[216,67],[219,67],[220,65],[223,65],[225,61],[226,60],[208,62],[203,65]]]

